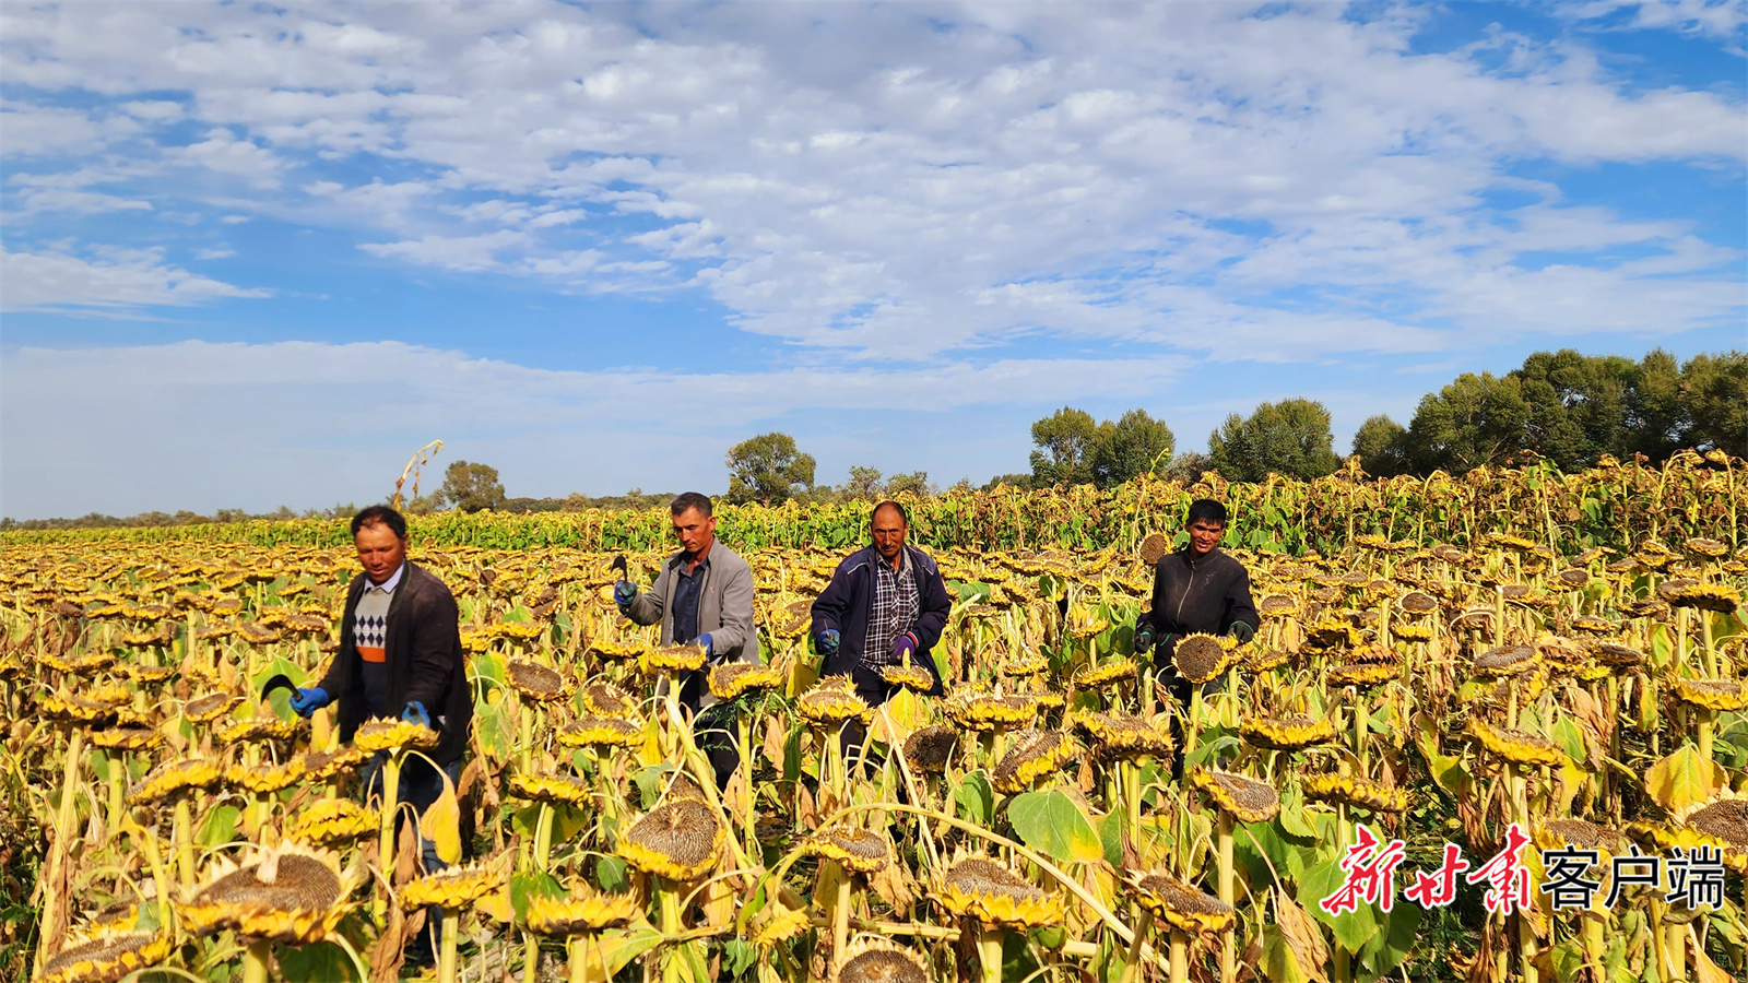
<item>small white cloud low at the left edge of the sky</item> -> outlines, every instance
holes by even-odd
[[[218,297],[267,297],[164,262],[163,248],[70,252],[0,250],[0,310],[126,313],[142,306],[201,304]]]

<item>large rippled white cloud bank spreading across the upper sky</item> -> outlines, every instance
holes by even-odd
[[[1724,37],[1745,9],[1617,7],[1563,14]],[[1302,360],[1627,331],[1626,311],[1661,311],[1640,331],[1673,332],[1739,310],[1729,248],[1692,247],[1683,222],[1566,206],[1557,180],[1510,173],[1673,161],[1739,175],[1734,89],[1638,91],[1584,37],[1498,31],[1421,54],[1426,9],[524,0],[0,16],[9,80],[121,108],[23,107],[42,115],[24,147],[91,152],[114,121],[185,112],[201,136],[159,154],[250,185],[217,198],[196,180],[184,194],[206,206],[344,227],[411,266],[568,292],[699,290],[743,331],[848,360],[1005,353],[1040,336]],[[1540,201],[1489,205],[1502,189]],[[168,210],[80,194],[37,208]],[[1542,269],[1549,250],[1575,271]]]

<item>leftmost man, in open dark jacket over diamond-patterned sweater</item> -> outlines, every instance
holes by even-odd
[[[467,682],[460,616],[454,595],[434,574],[407,561],[407,519],[386,505],[371,505],[351,519],[351,539],[364,572],[346,591],[339,652],[322,682],[297,691],[292,708],[309,717],[329,703],[339,705],[339,738],[351,742],[371,717],[400,717],[437,731],[430,759],[407,756],[400,771],[399,801],[420,815],[449,784],[461,778],[474,721],[474,694]],[[383,754],[365,768],[365,798],[381,794]],[[420,838],[427,871],[447,864],[437,845]],[[392,866],[383,861],[385,869]],[[432,946],[442,924],[432,922]],[[416,960],[428,959],[416,952]]]

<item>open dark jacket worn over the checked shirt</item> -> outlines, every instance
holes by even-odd
[[[940,631],[947,626],[947,614],[953,610],[953,596],[940,579],[940,567],[921,549],[905,544],[911,553],[911,572],[916,575],[916,651],[911,663],[928,670],[935,677],[933,693],[944,693],[940,670],[928,651],[940,640]],[[837,565],[832,582],[825,584],[818,600],[813,602],[811,633],[818,638],[827,628],[837,630],[837,654],[827,656],[820,675],[850,675],[862,665],[862,645],[869,637],[869,614],[874,610],[874,563],[884,563],[872,546],[865,546]]]

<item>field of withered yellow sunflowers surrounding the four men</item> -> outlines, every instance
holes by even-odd
[[[420,822],[440,871],[360,792],[432,731],[341,745],[332,708],[260,698],[337,647],[343,523],[5,533],[0,976],[1743,980],[1745,467],[921,498],[947,694],[881,707],[808,637],[867,504],[724,507],[764,665],[710,672],[722,789],[657,696],[703,651],[610,596],[666,511],[416,518],[475,703]],[[1262,628],[1155,665],[1133,624],[1197,497]],[[1168,672],[1224,686],[1178,707]]]

